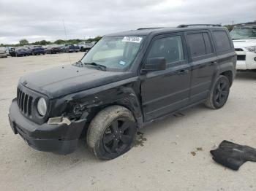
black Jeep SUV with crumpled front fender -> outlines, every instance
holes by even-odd
[[[68,154],[86,136],[96,157],[112,159],[148,122],[200,103],[224,106],[235,74],[221,26],[110,34],[77,63],[21,77],[10,125],[35,149]]]

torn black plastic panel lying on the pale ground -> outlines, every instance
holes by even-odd
[[[256,149],[230,141],[222,141],[218,149],[210,152],[213,160],[235,171],[238,171],[246,161],[256,162]]]

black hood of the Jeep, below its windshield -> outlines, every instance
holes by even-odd
[[[20,78],[20,83],[49,98],[58,98],[129,77],[132,77],[131,72],[100,71],[67,65],[28,74]]]

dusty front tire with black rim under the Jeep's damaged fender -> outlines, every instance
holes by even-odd
[[[123,106],[109,106],[91,120],[86,139],[97,158],[109,160],[129,151],[136,133],[132,112]]]

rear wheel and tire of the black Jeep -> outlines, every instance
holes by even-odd
[[[230,81],[227,77],[220,75],[214,82],[214,86],[206,99],[206,106],[211,109],[222,108],[227,102],[230,93]]]

